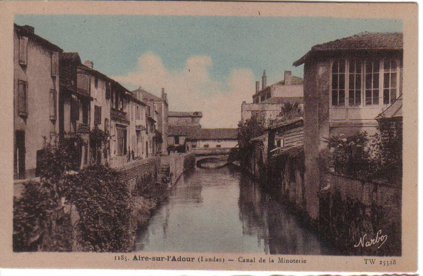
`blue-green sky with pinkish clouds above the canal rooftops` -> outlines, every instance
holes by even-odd
[[[236,127],[256,80],[283,72],[311,46],[360,32],[401,32],[396,19],[124,15],[16,15],[15,23],[113,77],[159,95],[175,111],[203,111],[203,127]]]

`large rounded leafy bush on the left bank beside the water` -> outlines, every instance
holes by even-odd
[[[69,175],[68,198],[79,213],[83,251],[127,252],[133,230],[130,192],[118,172],[94,166]]]

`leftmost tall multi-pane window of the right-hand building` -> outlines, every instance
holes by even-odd
[[[345,60],[336,60],[332,66],[332,105],[345,104]]]

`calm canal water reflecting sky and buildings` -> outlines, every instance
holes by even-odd
[[[135,242],[135,251],[334,254],[330,244],[233,167],[184,173]]]

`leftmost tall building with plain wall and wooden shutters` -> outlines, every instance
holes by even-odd
[[[15,179],[36,176],[37,154],[58,133],[59,54],[61,48],[38,36],[32,26],[14,24]]]

